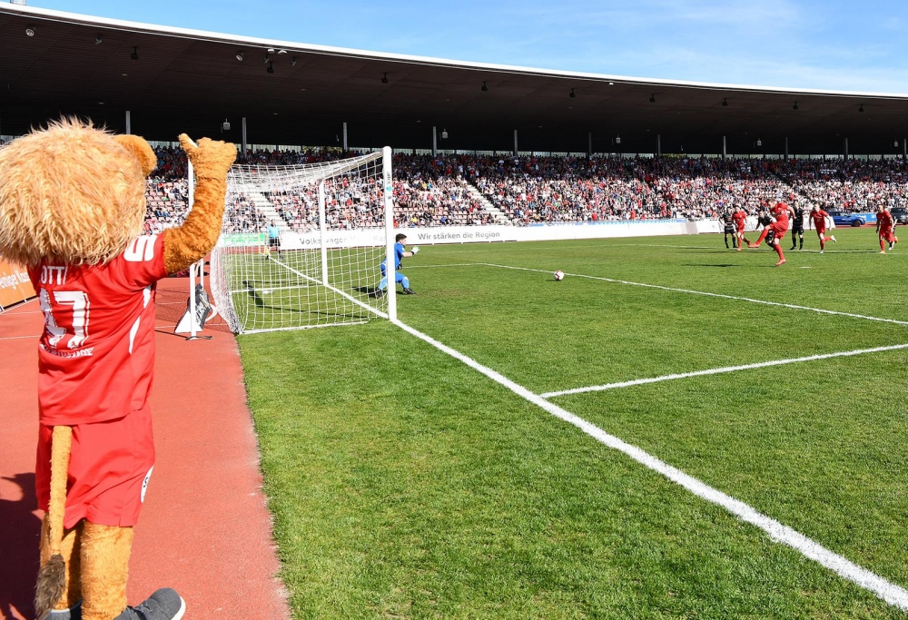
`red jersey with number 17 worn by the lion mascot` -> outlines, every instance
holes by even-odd
[[[103,422],[143,408],[152,389],[155,286],[167,275],[163,237],[138,237],[106,265],[43,263],[28,274],[44,311],[40,423]]]

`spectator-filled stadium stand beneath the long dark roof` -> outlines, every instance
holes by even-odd
[[[183,221],[186,163],[179,149],[159,148],[148,182],[145,230]],[[247,163],[289,165],[349,157],[337,150],[256,151]],[[729,207],[758,212],[776,200],[819,203],[843,211],[873,211],[885,203],[908,205],[908,167],[899,160],[716,158],[593,158],[475,155],[394,156],[395,221],[399,227],[483,225],[495,213],[508,223],[714,218]],[[381,225],[363,200],[374,184],[328,188],[333,230]],[[265,195],[292,231],[318,225],[318,197]],[[263,231],[268,220],[249,199],[238,231]]]

